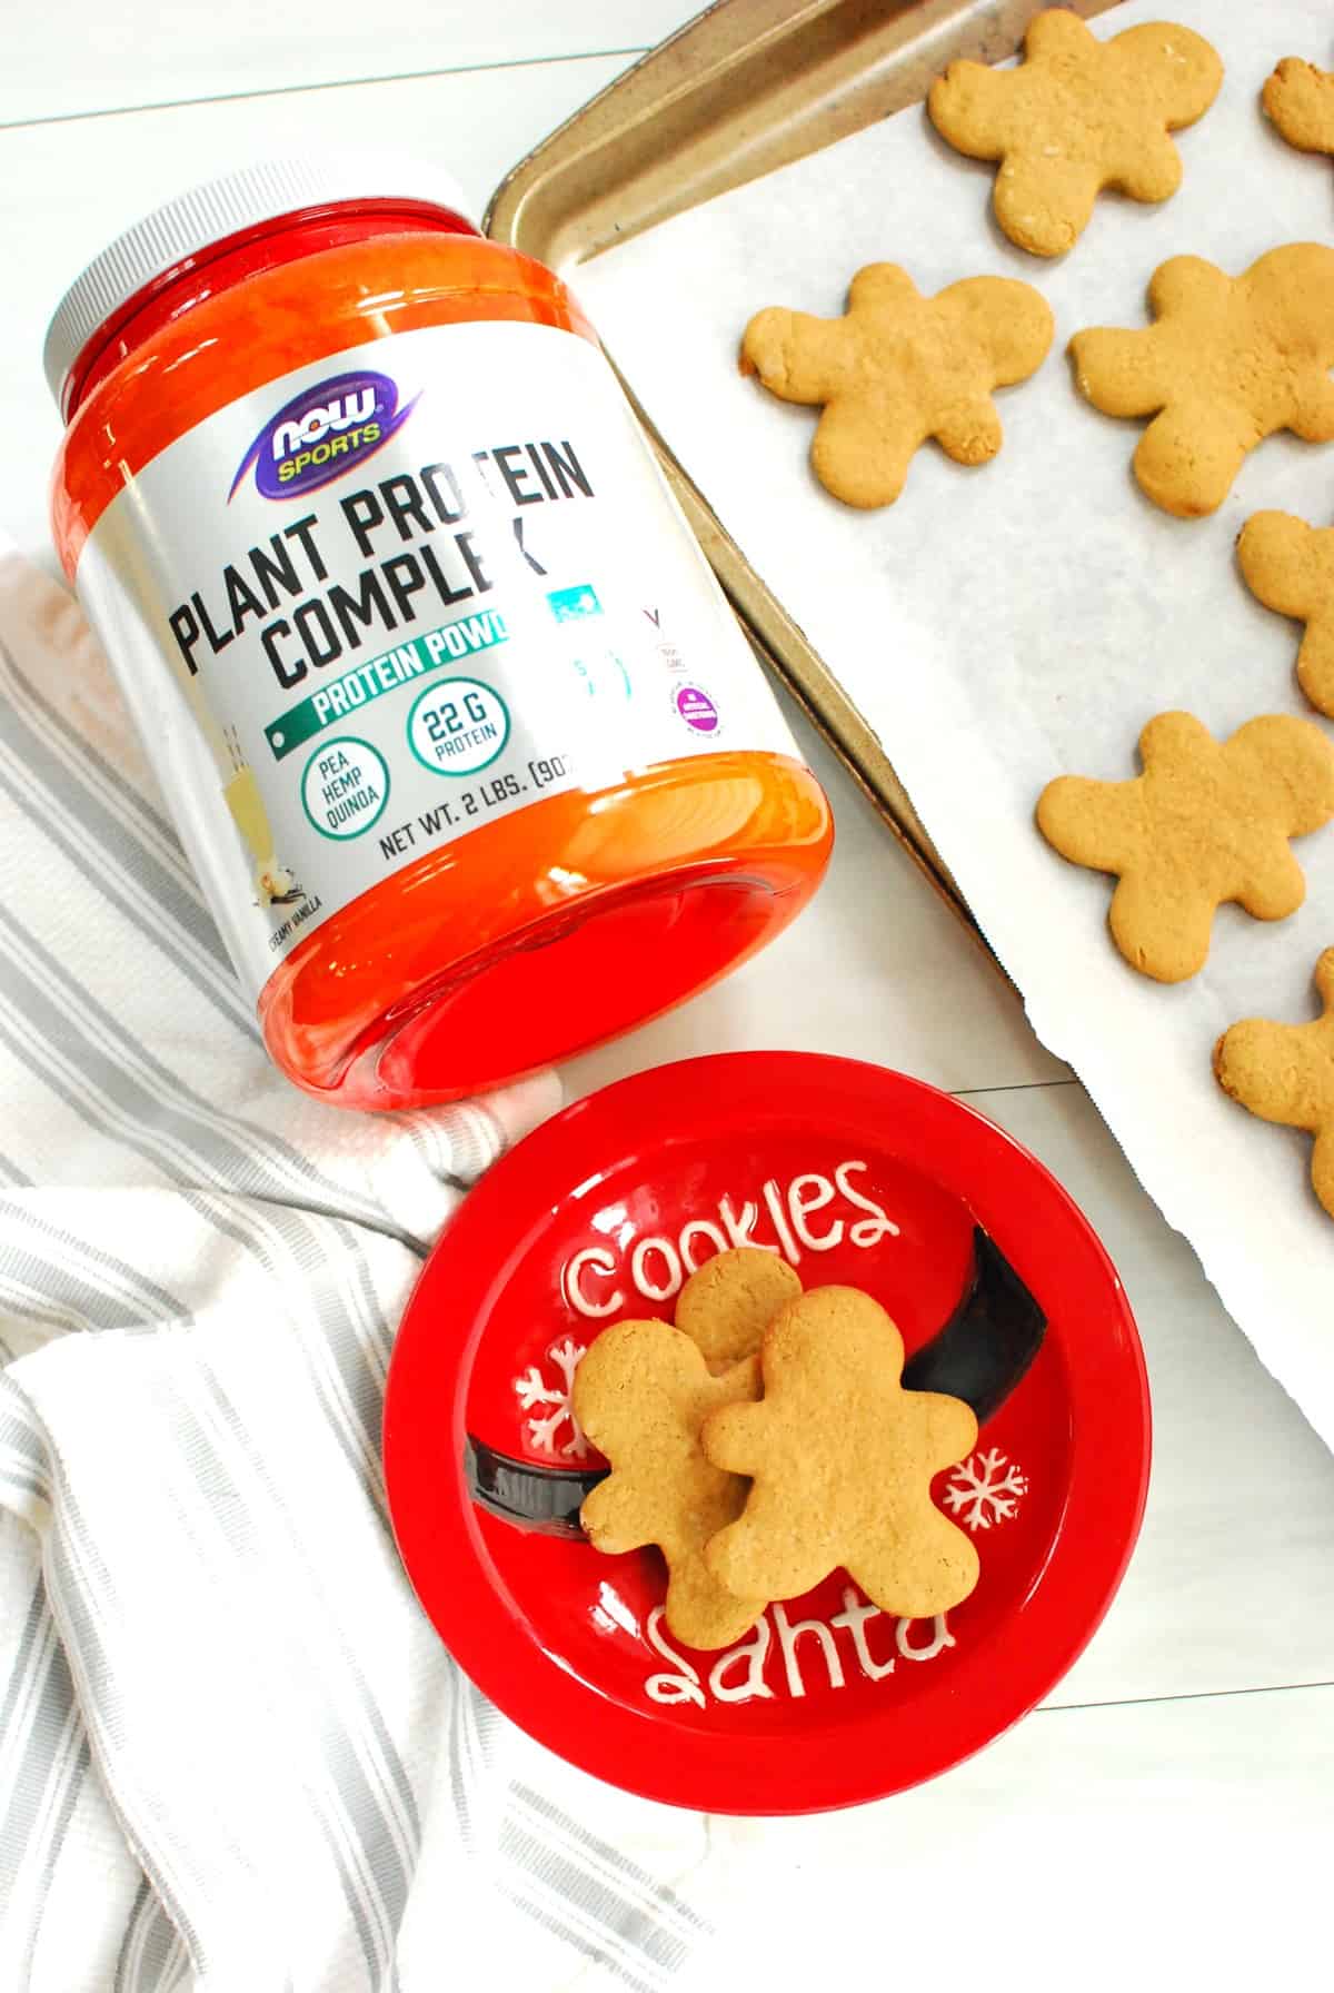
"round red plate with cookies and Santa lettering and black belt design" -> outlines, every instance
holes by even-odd
[[[577,1355],[625,1313],[669,1317],[691,1266],[747,1240],[876,1295],[908,1381],[942,1383],[914,1351],[980,1359],[978,1449],[934,1483],[982,1559],[948,1616],[892,1620],[834,1572],[699,1654],[663,1626],[655,1551],[532,1527],[605,1465],[569,1419]],[[974,1305],[982,1250],[1000,1305]],[[1015,1295],[1045,1317],[1019,1381]],[[1069,1668],[1139,1531],[1149,1393],[1117,1274],[1027,1150],[902,1074],[745,1052],[579,1100],[468,1196],[398,1331],[384,1471],[422,1606],[514,1722],[651,1800],[800,1814],[932,1778]]]

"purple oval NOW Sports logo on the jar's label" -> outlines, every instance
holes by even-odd
[[[251,470],[263,498],[297,498],[331,484],[382,450],[416,403],[414,395],[400,409],[398,387],[388,375],[348,373],[317,381],[259,430],[231,480],[227,504]]]

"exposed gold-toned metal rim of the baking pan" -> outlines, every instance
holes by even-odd
[[[1065,4],[1091,18],[1121,0]],[[484,231],[552,267],[579,265],[918,104],[956,58],[1003,62],[1039,10],[1041,0],[715,0],[520,159]],[[880,741],[623,385],[757,656],[986,949]]]

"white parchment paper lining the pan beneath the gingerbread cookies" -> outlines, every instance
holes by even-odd
[[[1296,626],[1252,602],[1232,546],[1266,506],[1326,524],[1334,446],[1270,438],[1213,518],[1173,520],[1133,482],[1141,425],[1085,405],[1063,353],[1079,327],[1147,323],[1149,275],[1171,255],[1236,273],[1278,243],[1334,235],[1334,167],[1286,147],[1258,108],[1280,56],[1330,62],[1328,8],[1129,0],[1093,32],[1163,16],[1215,42],[1223,94],[1179,136],[1183,189],[1161,207],[1101,197],[1061,263],[1000,235],[992,169],[914,108],[605,253],[577,289],[667,444],[876,727],[1033,1028],[1334,1445],[1334,1226],[1308,1188],[1310,1144],[1224,1100],[1209,1064],[1238,1016],[1314,1014],[1334,827],[1296,845],[1298,915],[1223,909],[1209,967],[1165,989],[1111,947],[1109,881],[1065,865],[1031,823],[1055,773],[1135,773],[1155,712],[1187,708],[1217,735],[1258,712],[1312,717],[1292,680]],[[1057,337],[1041,373],[1000,395],[994,464],[964,470],[928,446],[896,506],[858,514],[810,478],[814,411],[741,379],[737,343],[761,305],[834,315],[852,273],[882,259],[922,291],[1021,277]],[[882,919],[874,879],[864,917]]]

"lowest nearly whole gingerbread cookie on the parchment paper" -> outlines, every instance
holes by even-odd
[[[1334,817],[1334,747],[1310,719],[1248,719],[1217,741],[1191,713],[1139,735],[1143,775],[1061,775],[1037,827],[1073,865],[1117,873],[1111,937],[1133,969],[1183,983],[1209,957],[1215,909],[1282,921],[1306,897],[1288,849]]]

